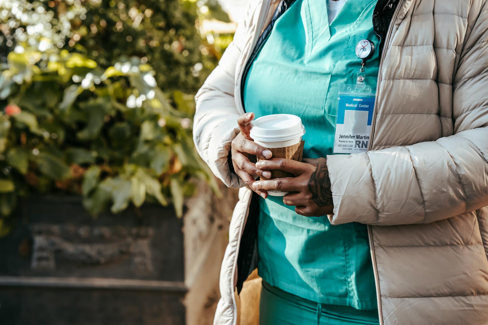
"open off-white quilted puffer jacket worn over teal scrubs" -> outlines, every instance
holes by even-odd
[[[199,153],[227,186],[242,187],[216,325],[237,322],[236,262],[251,197],[227,164],[244,113],[241,77],[276,2],[251,0],[196,99]],[[330,222],[369,225],[381,324],[487,325],[487,1],[400,0],[378,85],[371,151],[327,156]]]

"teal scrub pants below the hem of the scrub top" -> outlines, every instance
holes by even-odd
[[[318,304],[263,281],[260,325],[378,325],[378,310]]]

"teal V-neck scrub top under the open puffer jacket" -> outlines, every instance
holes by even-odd
[[[275,21],[244,82],[244,107],[256,117],[302,118],[305,158],[332,153],[339,88],[355,84],[369,39],[376,0],[347,0],[331,22],[325,0],[297,0]],[[376,87],[378,50],[366,61],[366,84]],[[376,309],[366,225],[331,226],[327,216],[304,217],[282,197],[260,197],[258,273],[271,286],[321,304]]]

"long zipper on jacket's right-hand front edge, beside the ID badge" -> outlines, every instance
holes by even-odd
[[[399,0],[398,4],[395,8],[395,12],[393,13],[393,17],[391,17],[390,23],[388,25],[388,30],[386,31],[386,36],[385,36],[385,45],[383,46],[383,51],[381,52],[381,58],[380,58],[380,65],[378,68],[378,79],[376,82],[376,95],[375,95],[375,105],[373,108],[373,119],[371,122],[371,134],[369,134],[369,144],[368,144],[368,151],[371,150],[371,146],[373,143],[373,130],[374,130],[374,123],[376,122],[376,106],[378,106],[378,93],[380,89],[380,81],[381,81],[381,68],[383,65],[383,59],[385,58],[385,51],[388,46],[388,41],[389,41],[389,36],[390,36],[390,31],[391,31],[391,25],[393,21],[395,21],[398,11],[400,9],[400,6],[402,5],[403,0]],[[386,6],[385,6],[386,7]],[[378,304],[378,316],[380,320],[380,325],[383,325],[383,313],[381,309],[381,296],[380,296],[380,286],[379,286],[379,276],[378,276],[378,267],[376,265],[376,256],[374,253],[374,248],[373,248],[373,235],[371,231],[371,225],[367,225],[367,235],[369,239],[369,251],[371,253],[371,262],[373,264],[373,273],[374,273],[374,285],[376,287],[376,303]]]

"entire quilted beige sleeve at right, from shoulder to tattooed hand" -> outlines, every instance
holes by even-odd
[[[428,223],[488,205],[487,87],[485,5],[453,80],[455,134],[407,147],[327,156],[334,200],[330,222]]]

